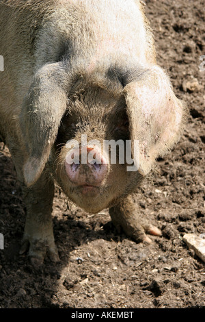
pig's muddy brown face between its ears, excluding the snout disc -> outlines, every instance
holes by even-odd
[[[89,102],[89,105],[86,102]],[[80,182],[80,179],[74,182],[74,179],[66,173],[65,162],[69,152],[66,143],[74,139],[81,145],[83,134],[87,136],[87,143],[94,139],[100,142],[101,155],[105,158],[105,162],[107,161],[107,164],[99,165],[101,169],[103,166],[106,167],[99,182],[94,175],[96,171],[90,171],[90,169],[83,169],[85,171],[84,182]],[[102,150],[103,140],[115,140],[115,142],[123,140],[125,149],[126,140],[129,139],[128,116],[122,95],[113,97],[111,93],[102,88],[95,90],[89,88],[86,91],[83,90],[83,95],[79,94],[70,98],[68,110],[61,121],[55,143],[54,157],[57,155],[57,162],[52,162],[55,166],[53,172],[56,173],[56,179],[69,199],[87,212],[94,213],[108,208],[119,198],[128,195],[128,192],[139,183],[141,175],[138,173],[133,180],[131,172],[126,170],[125,158],[124,164],[119,164],[118,146],[115,164],[110,164],[110,153],[103,155]],[[92,149],[96,149],[96,146],[92,145]],[[87,164],[84,168],[86,167]],[[82,177],[81,171],[80,178]]]

